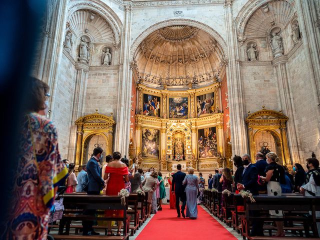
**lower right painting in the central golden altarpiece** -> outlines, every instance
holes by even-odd
[[[215,126],[198,129],[197,141],[199,158],[212,158],[217,156],[218,146]]]

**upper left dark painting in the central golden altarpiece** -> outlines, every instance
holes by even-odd
[[[143,92],[142,96],[142,114],[147,116],[160,117],[161,97],[156,94]]]

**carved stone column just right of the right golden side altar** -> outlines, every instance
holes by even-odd
[[[291,152],[291,158],[294,162],[299,162],[299,137],[296,129],[296,119],[295,119],[295,108],[293,104],[293,94],[291,92],[291,85],[289,82],[288,66],[287,66],[287,56],[279,56],[273,59],[272,65],[276,72],[276,77],[279,86],[279,95],[281,109],[284,114],[288,116],[287,121],[287,134],[288,134],[288,146]]]

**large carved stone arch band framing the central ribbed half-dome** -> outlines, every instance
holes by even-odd
[[[219,45],[222,48],[222,52],[224,54],[224,57],[227,58],[226,43],[225,43],[224,39],[222,38],[222,36],[217,31],[215,31],[212,27],[210,27],[202,22],[195,21],[192,19],[184,19],[184,18],[176,19],[176,18],[174,18],[174,19],[168,19],[168,20],[157,22],[157,23],[149,26],[148,28],[144,29],[131,44],[129,59],[131,61],[134,60],[133,59],[134,53],[135,53],[137,47],[139,46],[139,44],[143,41],[143,39],[145,37],[147,37],[150,33],[152,33],[155,30],[158,30],[162,27],[170,26],[170,25],[189,25],[189,26],[197,27],[197,28],[204,30],[205,32],[209,33],[212,37],[214,37],[214,39],[219,43]]]

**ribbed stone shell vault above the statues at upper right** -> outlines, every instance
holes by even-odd
[[[248,20],[244,35],[246,37],[265,37],[272,25],[286,25],[293,14],[287,1],[271,1],[265,7],[257,9]]]

